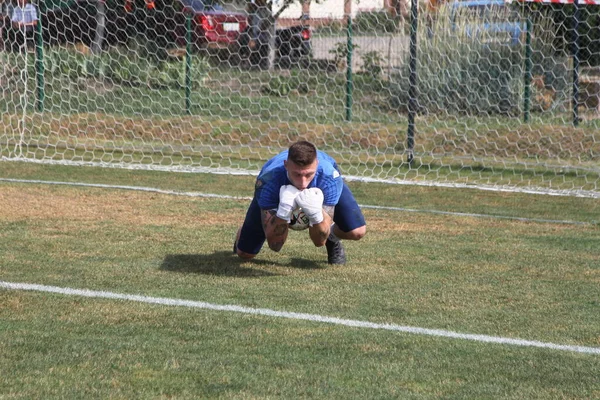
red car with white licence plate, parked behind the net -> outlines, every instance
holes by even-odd
[[[183,13],[178,13],[176,43],[186,44],[186,24],[184,14],[192,14],[191,42],[197,49],[229,50],[236,54],[239,49],[240,34],[248,26],[245,12],[226,10],[222,5],[202,0],[179,0]]]

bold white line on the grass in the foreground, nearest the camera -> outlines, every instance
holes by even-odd
[[[46,292],[46,293],[57,293],[67,296],[83,296],[91,298],[111,299],[111,300],[126,300],[135,301],[139,303],[147,304],[159,304],[165,306],[174,307],[188,307],[188,308],[199,308],[205,310],[214,311],[226,311],[226,312],[238,312],[243,314],[261,315],[265,317],[274,318],[287,318],[294,320],[310,321],[310,322],[323,322],[334,325],[343,325],[353,328],[368,328],[368,329],[383,329],[388,331],[411,333],[415,335],[427,335],[451,339],[471,340],[481,343],[493,343],[493,344],[505,344],[512,346],[522,347],[538,347],[546,348],[551,350],[569,351],[575,353],[586,353],[586,354],[598,354],[600,355],[600,348],[597,347],[586,347],[586,346],[573,346],[563,345],[548,342],[539,342],[536,340],[523,340],[523,339],[511,339],[498,336],[487,336],[487,335],[474,335],[468,333],[459,333],[453,331],[446,331],[441,329],[426,329],[418,328],[413,326],[402,326],[395,324],[377,324],[368,321],[358,321],[352,319],[341,319],[335,317],[327,317],[317,314],[305,314],[295,313],[287,311],[276,311],[267,308],[250,308],[236,305],[222,305],[222,304],[211,304],[202,301],[182,300],[182,299],[170,299],[165,297],[147,297],[132,294],[113,293],[96,290],[86,289],[72,289],[72,288],[61,288],[57,286],[45,286],[31,283],[13,283],[0,281],[0,288],[8,290],[27,290],[35,292]]]

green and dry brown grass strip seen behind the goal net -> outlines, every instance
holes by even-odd
[[[446,109],[418,115],[409,166],[406,110],[391,105],[393,91],[407,87],[383,76],[355,74],[352,121],[346,120],[344,73],[223,66],[194,82],[190,115],[183,89],[50,76],[38,113],[32,60],[28,65],[25,113],[17,96],[25,86],[19,71],[7,68],[3,77],[2,157],[14,157],[22,140],[26,156],[35,159],[257,170],[302,138],[336,156],[347,175],[598,190],[600,119],[585,116],[573,127],[571,114],[560,108],[533,113],[529,123],[518,115]]]

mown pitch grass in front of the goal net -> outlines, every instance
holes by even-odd
[[[252,177],[0,163],[0,177],[251,196]],[[0,280],[600,347],[597,200],[351,183],[349,263],[292,232],[231,253],[246,200],[0,182]],[[0,397],[592,399],[598,355],[0,290]]]

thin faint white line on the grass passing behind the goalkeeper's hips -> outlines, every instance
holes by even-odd
[[[165,190],[144,186],[126,186],[126,185],[107,185],[101,183],[83,183],[83,182],[57,182],[57,181],[42,181],[42,180],[31,180],[31,179],[9,179],[0,178],[0,182],[12,182],[12,183],[30,183],[30,184],[44,184],[44,185],[66,185],[66,186],[83,186],[93,187],[102,189],[121,189],[121,190],[136,190],[141,192],[152,192],[175,196],[187,196],[187,197],[203,197],[203,198],[217,198],[226,200],[252,200],[251,197],[247,196],[229,196],[212,193],[201,193],[201,192],[181,192],[175,190]],[[539,222],[539,223],[551,223],[551,224],[568,224],[568,225],[593,225],[596,221],[584,222],[584,221],[571,221],[571,220],[553,220],[553,219],[542,219],[542,218],[522,218],[507,215],[493,215],[493,214],[475,214],[475,213],[460,213],[451,211],[440,211],[440,210],[419,210],[414,208],[403,208],[403,207],[386,207],[386,206],[373,206],[368,204],[360,204],[362,208],[376,209],[376,210],[388,210],[388,211],[400,211],[400,212],[411,212],[411,213],[426,213],[426,214],[440,214],[457,217],[474,217],[474,218],[495,218],[495,219],[507,219],[513,221],[522,222]]]

